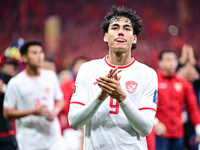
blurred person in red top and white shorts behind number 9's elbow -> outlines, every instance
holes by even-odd
[[[86,58],[78,57],[74,60],[71,71],[73,72],[73,78],[69,81],[64,82],[61,85],[61,89],[64,94],[65,105],[59,118],[61,121],[61,126],[63,130],[63,135],[65,137],[65,142],[67,145],[67,150],[82,150],[83,149],[83,127],[78,131],[73,130],[68,123],[68,112],[69,104],[74,91],[75,78],[78,73],[80,66],[86,62]]]

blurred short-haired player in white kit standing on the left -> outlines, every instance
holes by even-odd
[[[44,53],[39,41],[27,41],[20,53],[26,68],[8,83],[4,116],[16,119],[20,150],[63,150],[57,119],[63,94],[56,74],[40,69]]]

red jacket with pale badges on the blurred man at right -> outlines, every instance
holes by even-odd
[[[194,126],[200,123],[198,104],[192,85],[184,78],[174,74],[164,76],[159,70],[158,103],[156,117],[165,124],[165,138],[181,138],[184,134],[182,111],[186,104]]]

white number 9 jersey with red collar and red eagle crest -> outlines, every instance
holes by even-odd
[[[114,65],[107,57],[84,63],[78,72],[71,109],[87,105],[99,94],[96,78],[105,76]],[[148,66],[134,58],[122,69],[120,85],[128,99],[140,111],[147,110],[153,122],[157,108],[157,75]],[[85,150],[147,150],[146,138],[131,126],[118,102],[108,97],[85,126]],[[88,108],[90,109],[90,108]],[[153,125],[152,125],[153,126]]]

